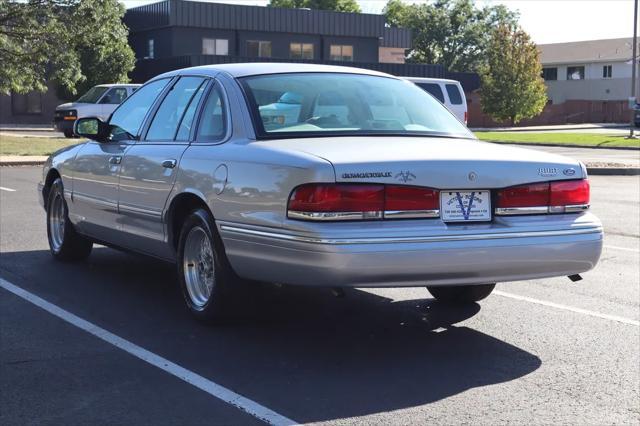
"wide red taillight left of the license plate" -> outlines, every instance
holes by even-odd
[[[288,215],[310,220],[438,217],[438,194],[400,185],[306,184],[291,194]]]

